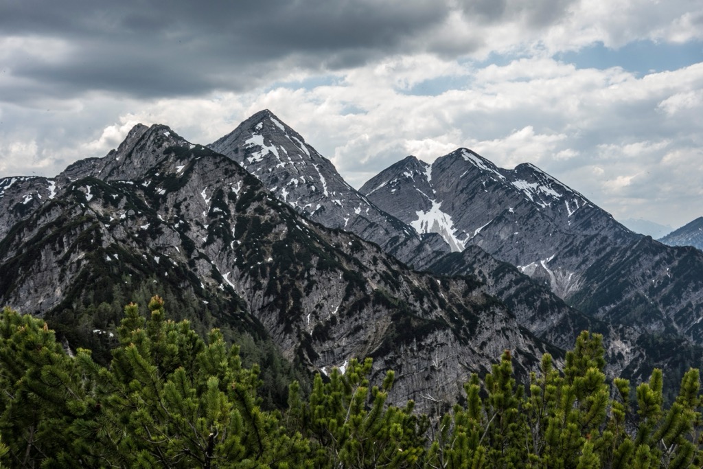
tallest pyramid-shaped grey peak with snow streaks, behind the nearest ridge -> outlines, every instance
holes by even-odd
[[[257,176],[280,200],[314,221],[356,233],[404,262],[425,265],[449,250],[441,238],[423,238],[379,210],[349,186],[332,162],[269,110],[242,122],[209,148]]]

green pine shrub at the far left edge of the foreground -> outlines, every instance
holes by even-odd
[[[40,461],[82,465],[84,446],[67,428],[91,418],[91,383],[46,323],[5,308],[0,318],[0,433],[13,467]]]

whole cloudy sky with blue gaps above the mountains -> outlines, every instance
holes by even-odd
[[[703,216],[699,0],[0,0],[0,177],[264,108],[356,187],[467,147],[617,219]]]

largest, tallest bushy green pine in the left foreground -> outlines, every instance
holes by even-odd
[[[219,330],[207,344],[188,321],[165,319],[154,297],[148,321],[125,308],[110,368],[78,359],[98,383],[101,413],[93,431],[96,463],[120,467],[287,467],[307,446],[290,437],[277,413],[262,411],[256,367],[243,368]]]

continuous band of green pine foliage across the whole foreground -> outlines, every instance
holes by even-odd
[[[387,403],[394,373],[371,361],[316,375],[309,393],[264,406],[259,366],[219,330],[124,309],[106,366],[70,354],[41,319],[0,316],[0,461],[6,467],[700,468],[699,371],[667,409],[662,371],[607,383],[602,338],[583,332],[563,371],[550,355],[527,387],[510,352],[439,418]]]

